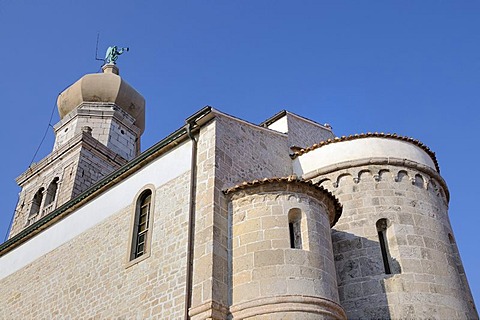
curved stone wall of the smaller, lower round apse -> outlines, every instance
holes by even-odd
[[[308,189],[307,185],[299,185],[296,189],[289,187],[286,192],[281,191],[280,183],[277,184],[271,189],[259,186],[248,192],[239,190],[232,195],[230,214],[233,221],[237,222],[232,226],[231,235],[233,317],[243,318],[254,313],[262,319],[277,319],[283,318],[286,310],[292,308],[291,311],[304,310],[298,312],[302,319],[314,318],[314,314],[318,317],[319,310],[331,314],[331,318],[343,318],[343,311],[332,307],[338,305],[339,298],[329,237],[329,215],[324,209],[324,206],[329,207],[329,203],[324,204],[312,198],[304,190]],[[275,199],[273,205],[269,205],[267,199],[270,198]],[[256,203],[263,205],[257,206]],[[283,215],[279,215],[279,206]],[[331,205],[330,208],[335,209]],[[301,212],[302,248],[299,249],[291,248],[290,241],[273,242],[281,238],[289,239],[289,212],[292,210]],[[268,223],[260,226],[259,221]],[[263,231],[260,239],[254,230]],[[254,236],[248,236],[252,234]],[[257,243],[269,245],[266,250],[258,250],[258,246],[255,246]],[[237,254],[237,251],[240,253]],[[252,278],[249,274],[251,270]],[[245,282],[246,278],[250,281]],[[361,291],[361,286],[359,288]],[[262,307],[265,299],[284,297],[289,301],[289,296],[316,297],[328,303],[317,306],[315,312],[306,305],[293,309],[292,302],[276,301],[268,307]],[[235,312],[236,309],[239,311]]]

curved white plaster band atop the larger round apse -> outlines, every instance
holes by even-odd
[[[376,157],[407,159],[436,170],[432,158],[412,143],[368,137],[335,142],[307,152],[293,161],[293,172],[301,176],[341,162]]]

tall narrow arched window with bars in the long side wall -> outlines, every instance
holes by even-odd
[[[149,221],[152,202],[152,191],[146,190],[137,201],[135,213],[135,225],[130,260],[134,260],[145,254],[149,243]]]

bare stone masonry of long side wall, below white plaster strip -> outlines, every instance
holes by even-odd
[[[190,173],[156,190],[151,256],[126,267],[132,205],[0,280],[0,319],[180,319]]]

